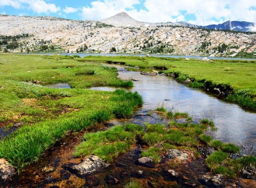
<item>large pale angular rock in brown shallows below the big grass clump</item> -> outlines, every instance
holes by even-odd
[[[79,175],[90,174],[94,171],[100,170],[102,168],[108,167],[108,164],[102,161],[98,156],[92,155],[85,158],[79,164],[68,164],[65,165],[68,170],[75,171]]]

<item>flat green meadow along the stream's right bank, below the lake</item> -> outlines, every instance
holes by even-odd
[[[193,88],[219,88],[225,92],[227,101],[238,103],[244,108],[256,110],[256,64],[249,60],[214,60],[213,62],[190,59],[139,57],[139,56],[87,56],[82,62],[121,63],[131,67],[139,66],[139,71],[152,68],[165,69],[179,82],[190,79]]]

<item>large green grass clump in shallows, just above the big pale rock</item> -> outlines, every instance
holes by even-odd
[[[131,127],[137,131],[129,130]],[[84,142],[75,148],[74,156],[97,155],[102,160],[112,162],[114,158],[130,149],[131,144],[136,142],[136,136],[140,133],[139,125],[127,124],[115,126],[109,130],[87,133]]]

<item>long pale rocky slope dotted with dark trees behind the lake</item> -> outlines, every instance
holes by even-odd
[[[0,35],[30,34],[28,38],[17,41],[17,48],[7,49],[9,52],[20,52],[21,49],[23,52],[26,49],[48,52],[49,49],[42,46],[52,45],[55,51],[59,49],[62,52],[76,52],[78,49],[79,52],[109,53],[114,48],[116,53],[171,55],[235,56],[245,52],[252,55],[256,53],[256,33],[155,25],[137,28],[117,27],[108,24],[110,22],[2,15]],[[140,24],[145,26],[148,23]],[[5,47],[2,45],[2,51]]]

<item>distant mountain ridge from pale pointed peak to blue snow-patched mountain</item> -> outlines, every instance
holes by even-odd
[[[130,17],[126,12],[118,13],[112,17],[101,20],[102,23],[111,24],[116,27],[156,27],[156,26],[184,26],[184,27],[196,27],[196,28],[207,28],[207,29],[220,29],[220,30],[235,30],[235,31],[256,31],[256,23],[246,21],[226,21],[218,25],[209,26],[198,26],[190,24],[184,21],[176,23],[165,22],[165,23],[146,23],[135,20]]]

